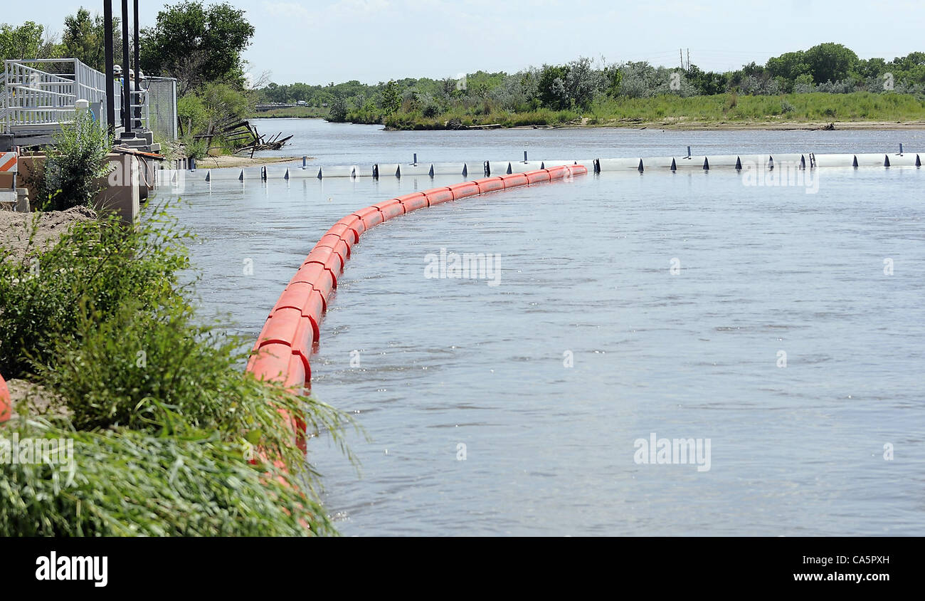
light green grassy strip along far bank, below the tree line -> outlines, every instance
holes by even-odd
[[[396,130],[452,129],[453,119],[463,127],[499,124],[524,126],[656,126],[665,128],[754,126],[782,123],[925,123],[925,99],[911,94],[783,94],[746,96],[716,94],[680,97],[620,98],[598,101],[586,111],[531,112],[465,111],[451,109],[425,118],[418,112],[396,113],[385,124]]]

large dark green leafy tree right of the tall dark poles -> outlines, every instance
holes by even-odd
[[[154,28],[142,31],[142,68],[177,78],[180,95],[209,81],[243,89],[240,54],[253,33],[244,11],[228,3],[203,6],[188,0],[166,6]]]

